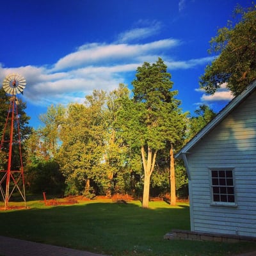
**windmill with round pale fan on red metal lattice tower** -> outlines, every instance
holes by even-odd
[[[26,80],[19,74],[10,74],[3,81],[3,89],[10,96],[10,106],[0,148],[0,192],[3,196],[5,210],[8,209],[9,200],[14,192],[17,192],[22,197],[26,207],[20,125],[17,108],[19,101],[16,97],[17,94],[23,93],[25,86]],[[1,170],[2,168],[4,170]]]

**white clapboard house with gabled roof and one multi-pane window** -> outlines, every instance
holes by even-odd
[[[176,157],[188,173],[191,231],[256,237],[256,81]]]

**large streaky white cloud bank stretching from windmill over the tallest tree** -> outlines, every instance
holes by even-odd
[[[136,37],[146,38],[157,33],[160,26],[153,22],[148,27],[143,24],[143,27],[124,31],[118,36],[120,42],[81,45],[51,66],[6,68],[0,65],[0,79],[3,81],[5,76],[13,72],[21,74],[27,81],[25,100],[47,106],[83,102],[84,96],[94,89],[109,91],[119,83],[131,83],[127,77],[134,75],[137,67],[144,61],[155,62],[158,57],[163,58],[170,70],[194,68],[211,61],[210,58],[173,60],[170,50],[182,44],[175,38],[129,44]]]

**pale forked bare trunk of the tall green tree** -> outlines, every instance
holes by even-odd
[[[141,147],[141,157],[143,161],[143,169],[144,169],[144,188],[143,188],[143,200],[142,207],[148,208],[149,202],[149,190],[150,190],[150,177],[152,172],[154,171],[154,166],[156,163],[156,154],[157,151],[152,154],[152,149],[148,147],[148,156],[146,159],[145,149]]]

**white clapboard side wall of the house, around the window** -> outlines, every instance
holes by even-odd
[[[256,237],[256,92],[187,155],[191,230]],[[209,168],[234,168],[236,206],[211,205]]]

